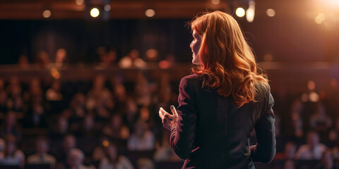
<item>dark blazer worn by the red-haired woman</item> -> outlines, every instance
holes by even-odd
[[[201,75],[182,78],[179,87],[178,124],[170,143],[182,159],[182,168],[254,168],[275,156],[273,97],[270,87],[257,87],[258,102],[238,108],[232,96],[202,88]],[[249,148],[251,131],[258,143]]]

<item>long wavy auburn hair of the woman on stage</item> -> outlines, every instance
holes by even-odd
[[[227,13],[214,11],[189,24],[202,36],[198,51],[201,65],[193,66],[192,71],[203,75],[203,87],[212,87],[222,96],[232,95],[239,107],[257,102],[262,96],[259,87],[268,87],[268,79],[256,64],[237,21]]]

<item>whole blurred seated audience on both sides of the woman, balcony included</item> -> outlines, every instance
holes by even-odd
[[[102,66],[159,68],[174,64],[174,56],[159,61],[157,51],[139,51],[117,61],[112,48],[98,48]],[[37,63],[47,67],[45,52]],[[66,63],[59,49],[54,66]],[[20,56],[19,65],[28,65]],[[45,82],[35,77],[0,80],[0,166],[49,164],[52,168],[180,168],[182,160],[169,145],[158,110],[177,106],[179,81],[164,73],[151,79],[142,69],[133,82],[119,73],[98,75],[92,82]],[[272,87],[277,155],[268,168],[338,168],[339,86],[332,78],[321,87],[309,81],[303,92]],[[167,110],[167,112],[170,112]],[[251,144],[256,143],[255,131]],[[170,164],[177,165],[170,165]],[[172,167],[171,167],[172,166]]]

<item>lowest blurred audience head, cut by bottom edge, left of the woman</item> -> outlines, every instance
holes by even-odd
[[[83,161],[85,160],[85,155],[80,149],[71,149],[69,151],[69,156],[67,161],[69,163],[69,169],[95,169],[94,166],[85,166]]]

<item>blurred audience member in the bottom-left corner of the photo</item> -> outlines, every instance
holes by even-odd
[[[17,148],[16,137],[13,135],[6,136],[6,148],[4,158],[1,159],[0,165],[18,165],[23,168],[25,164],[25,154]]]

